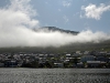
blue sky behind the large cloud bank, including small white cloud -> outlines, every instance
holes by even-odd
[[[0,0],[6,7],[9,0]],[[40,27],[110,32],[110,0],[31,0]]]

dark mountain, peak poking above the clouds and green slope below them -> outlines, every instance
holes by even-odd
[[[63,30],[56,27],[43,27],[38,29],[34,29],[34,31],[44,31],[44,32],[63,32],[70,33],[77,35],[78,31]],[[110,51],[110,40],[102,41],[99,43],[88,42],[88,43],[73,43],[58,48],[47,46],[15,46],[15,48],[0,48],[0,52],[53,52],[53,53],[62,53],[62,52],[73,52],[73,51],[91,51],[91,50],[105,50]]]

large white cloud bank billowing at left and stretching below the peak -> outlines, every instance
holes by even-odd
[[[99,43],[110,39],[105,32],[81,31],[77,35],[58,31],[33,31],[40,28],[40,21],[34,19],[37,12],[33,10],[30,0],[10,0],[10,4],[0,8],[0,48],[10,46],[62,46],[74,43]]]

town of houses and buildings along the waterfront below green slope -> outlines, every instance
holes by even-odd
[[[63,53],[4,52],[0,53],[0,68],[110,68],[110,52],[75,51]]]

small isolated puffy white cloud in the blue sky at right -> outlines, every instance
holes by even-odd
[[[110,6],[106,6],[103,3],[100,3],[100,6],[97,7],[96,4],[90,3],[87,7],[82,6],[81,10],[85,11],[85,15],[87,18],[100,20],[102,13],[110,10]]]

